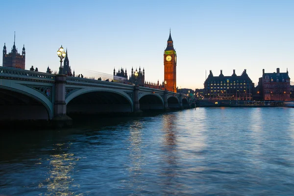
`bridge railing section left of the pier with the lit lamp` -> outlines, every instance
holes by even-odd
[[[55,75],[50,73],[41,73],[17,68],[0,67],[0,77],[40,79],[55,81]]]

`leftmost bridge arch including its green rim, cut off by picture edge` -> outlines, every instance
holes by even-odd
[[[0,114],[0,119],[51,120],[53,118],[51,101],[30,87],[23,85],[21,87],[22,90],[0,86],[0,110],[5,112]]]

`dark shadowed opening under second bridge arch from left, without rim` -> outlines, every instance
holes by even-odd
[[[111,114],[132,112],[130,102],[122,95],[112,92],[90,92],[73,98],[67,104],[67,114]]]

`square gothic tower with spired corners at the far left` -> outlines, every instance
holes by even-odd
[[[11,52],[7,53],[6,46],[4,43],[2,66],[25,70],[25,45],[23,47],[22,54],[18,53],[18,50],[15,47],[15,36]]]

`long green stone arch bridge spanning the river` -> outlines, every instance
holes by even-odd
[[[71,114],[182,109],[189,101],[167,90],[0,67],[0,121],[68,122]]]

